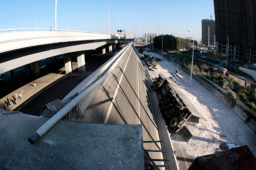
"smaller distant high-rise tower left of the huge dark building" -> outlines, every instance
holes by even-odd
[[[206,45],[206,46],[214,45],[214,35],[215,35],[215,20],[209,20],[209,19],[202,20],[202,45]]]

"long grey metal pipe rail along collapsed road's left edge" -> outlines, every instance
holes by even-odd
[[[122,56],[125,54],[125,52],[128,50],[128,48],[133,43],[130,43],[125,51],[119,56],[118,59],[113,63],[113,65],[108,69],[108,71],[100,78],[98,79],[93,85],[91,85],[89,88],[84,90],[79,96],[77,96],[75,99],[73,99],[71,102],[69,102],[64,108],[62,108],[58,113],[56,113],[54,116],[52,116],[47,122],[44,123],[39,129],[32,134],[32,136],[29,137],[29,142],[34,144],[38,139],[40,139],[47,131],[52,128],[60,119],[62,119],[72,108],[74,108],[82,99],[84,99],[85,96],[87,96],[94,88],[96,88],[98,85],[103,83],[105,79],[108,77],[108,75],[113,71],[114,68],[116,68],[116,65],[122,58]]]

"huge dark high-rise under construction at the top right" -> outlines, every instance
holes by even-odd
[[[256,1],[214,0],[214,11],[217,55],[256,63]]]

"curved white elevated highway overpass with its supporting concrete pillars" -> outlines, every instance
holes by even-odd
[[[85,72],[84,51],[112,51],[124,37],[87,31],[54,29],[0,30],[0,74],[25,65],[26,73],[39,74],[38,60],[65,54],[66,73],[72,72],[71,58],[78,57],[79,72]]]

